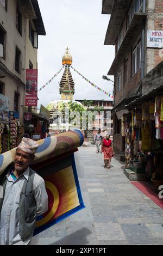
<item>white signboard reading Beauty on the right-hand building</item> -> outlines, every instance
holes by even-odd
[[[147,47],[163,48],[163,31],[148,30]]]

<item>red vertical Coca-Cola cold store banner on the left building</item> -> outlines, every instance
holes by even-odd
[[[37,107],[37,69],[26,69],[26,106]]]

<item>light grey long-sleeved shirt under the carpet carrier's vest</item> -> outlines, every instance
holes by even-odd
[[[33,234],[26,241],[22,241],[19,234],[19,204],[20,193],[24,180],[29,178],[29,167],[15,181],[7,174],[8,182],[5,188],[5,195],[1,210],[0,222],[0,245],[28,245]],[[45,188],[45,181],[38,174],[34,174],[33,193],[37,205],[37,216],[48,210],[48,197]]]

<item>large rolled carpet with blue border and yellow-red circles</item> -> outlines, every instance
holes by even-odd
[[[32,168],[45,180],[48,211],[37,218],[34,235],[85,208],[73,154],[83,142],[79,130],[38,141]],[[0,155],[0,174],[14,162],[15,151]]]

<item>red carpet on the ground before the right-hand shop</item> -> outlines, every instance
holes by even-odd
[[[155,188],[148,181],[133,181],[131,184],[146,194],[147,197],[151,198],[155,204],[163,209],[163,199],[159,198],[159,194],[155,192]]]

